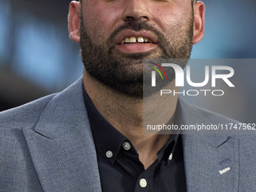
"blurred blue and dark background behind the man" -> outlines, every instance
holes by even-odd
[[[69,39],[69,2],[0,0],[0,111],[59,92],[82,75],[79,44]],[[256,1],[203,2],[206,4],[205,37],[194,45],[191,58],[256,59]],[[251,75],[242,65],[236,66],[236,70],[243,76],[234,81],[243,90],[213,100],[186,99],[236,120],[253,123],[256,65],[251,65]]]

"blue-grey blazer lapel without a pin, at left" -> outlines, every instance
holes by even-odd
[[[82,79],[57,94],[34,128],[23,128],[44,191],[101,191]]]

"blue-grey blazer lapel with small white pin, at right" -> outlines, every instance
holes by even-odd
[[[180,99],[181,124],[212,124]],[[187,191],[238,191],[239,140],[235,136],[184,134],[184,168]]]

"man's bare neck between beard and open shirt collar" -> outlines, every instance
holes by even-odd
[[[174,87],[173,84],[171,87]],[[150,120],[150,123],[147,121],[148,124],[154,124],[155,122],[151,120],[155,120],[155,117],[161,117],[162,124],[168,121],[174,123],[178,96],[165,97],[163,102],[159,99],[159,93],[152,95],[147,98],[147,101],[144,101],[145,106],[143,108],[143,99],[131,98],[118,93],[91,77],[85,70],[84,88],[93,105],[105,120],[108,120],[112,126],[133,143],[139,154],[139,159],[144,164],[145,169],[148,168],[157,159],[157,151],[163,147],[169,139],[169,135],[143,134],[143,109],[147,109],[144,116]],[[168,88],[171,90],[170,87]],[[156,110],[157,108],[164,108],[165,110]]]

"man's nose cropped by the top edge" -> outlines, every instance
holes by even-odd
[[[150,11],[145,0],[126,0],[126,8],[122,15],[123,21],[151,19]]]

